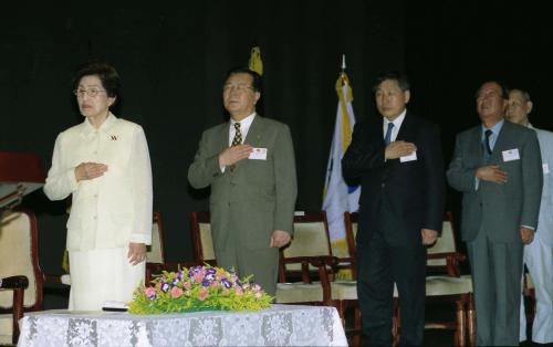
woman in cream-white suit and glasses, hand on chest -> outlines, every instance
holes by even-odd
[[[113,66],[92,61],[79,69],[74,94],[84,122],[58,136],[44,185],[51,200],[72,194],[70,309],[128,302],[145,276],[152,167],[143,128],[109,112],[118,92]]]

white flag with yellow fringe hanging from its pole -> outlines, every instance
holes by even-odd
[[[361,194],[361,187],[347,186],[342,176],[342,157],[352,141],[355,125],[352,107],[353,93],[345,72],[342,72],[336,81],[336,93],[338,95],[338,107],[326,168],[323,210],[326,211],[333,254],[344,256],[348,253],[345,240],[344,212],[358,210]]]

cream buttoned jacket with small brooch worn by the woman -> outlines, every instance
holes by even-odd
[[[95,179],[75,179],[81,162],[107,165]],[[152,167],[143,128],[109,113],[96,129],[87,119],[62,132],[54,146],[44,192],[72,197],[67,250],[86,251],[152,243]]]

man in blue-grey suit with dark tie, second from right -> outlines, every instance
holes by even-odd
[[[462,192],[479,346],[519,345],[522,248],[532,242],[542,192],[535,132],[504,120],[508,97],[497,81],[480,86],[482,124],[457,136],[447,171]]]

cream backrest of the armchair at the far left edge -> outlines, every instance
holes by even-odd
[[[39,266],[36,218],[30,210],[1,213],[0,277],[23,275],[29,280],[24,292],[24,311],[42,309],[44,277]],[[13,293],[0,292],[0,308],[10,309]]]

